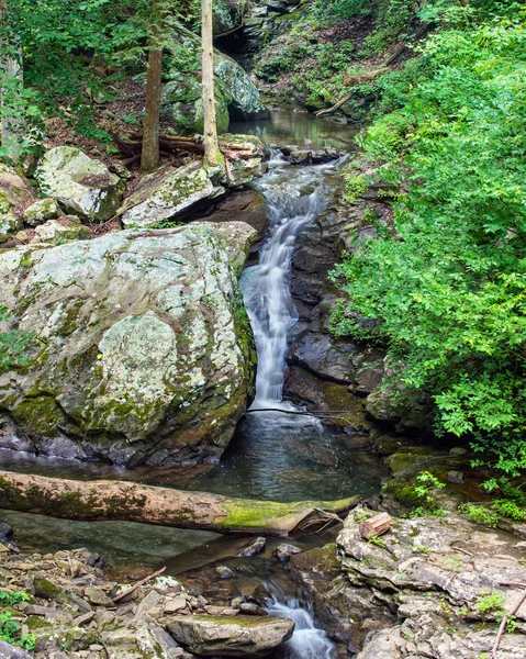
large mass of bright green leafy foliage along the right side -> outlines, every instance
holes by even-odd
[[[524,7],[438,31],[422,59],[363,142],[409,186],[396,235],[359,245],[334,277],[405,386],[432,393],[437,432],[513,477],[526,468]]]

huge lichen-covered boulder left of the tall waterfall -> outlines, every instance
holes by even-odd
[[[120,465],[214,462],[253,391],[242,222],[123,231],[0,255],[0,305],[34,333],[0,376],[3,446]],[[9,328],[9,327],[8,327]]]

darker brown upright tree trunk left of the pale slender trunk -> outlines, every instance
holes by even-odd
[[[146,79],[146,105],[143,122],[143,150],[141,171],[152,171],[159,165],[159,115],[160,80],[163,68],[163,46],[159,43],[160,16],[157,2],[153,2],[152,35],[148,51],[148,72]]]

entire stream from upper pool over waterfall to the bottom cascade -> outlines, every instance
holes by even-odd
[[[272,112],[270,121],[235,125],[232,130],[257,134],[267,143],[339,148],[351,143],[354,133],[347,126],[314,121],[310,115],[293,112]],[[339,165],[335,161],[292,166],[273,149],[268,172],[257,181],[267,204],[269,230],[259,263],[246,268],[242,277],[258,353],[256,398],[216,469],[191,478],[167,468],[134,473],[108,465],[42,459],[7,450],[0,451],[2,468],[83,480],[141,480],[275,501],[335,500],[378,492],[383,471],[369,450],[351,448],[348,435],[324,426],[314,416],[288,414],[299,409],[282,400],[288,337],[298,320],[289,286],[294,243],[302,228],[329,203],[331,177],[337,175]],[[45,554],[83,546],[102,555],[120,574],[136,574],[137,569],[149,572],[166,565],[167,573],[189,573],[190,581],[199,582],[214,561],[215,565],[222,561],[219,565],[231,566],[239,573],[237,594],[242,592],[244,579],[251,583],[268,582],[267,592],[271,594],[268,611],[295,621],[296,629],[283,657],[328,659],[333,656],[333,644],[316,628],[309,603],[293,592],[290,578],[271,557],[277,540],[268,541],[261,557],[242,560],[232,557],[246,538],[239,540],[212,533],[124,522],[70,522],[0,512],[1,518],[15,528],[21,549]],[[331,533],[300,538],[295,544],[302,549],[322,546],[334,539]],[[236,591],[227,594],[235,596]]]

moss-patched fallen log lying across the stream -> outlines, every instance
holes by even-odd
[[[120,520],[216,533],[315,533],[359,496],[277,503],[125,481],[75,481],[0,471],[0,507],[67,520]]]

